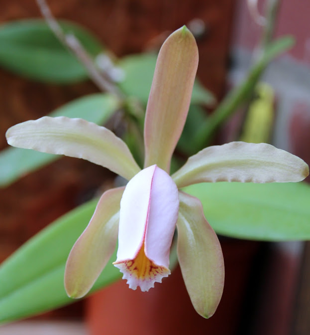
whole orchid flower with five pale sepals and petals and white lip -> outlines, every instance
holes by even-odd
[[[157,59],[146,109],[144,169],[126,144],[104,127],[82,119],[43,117],[13,126],[15,147],[83,158],[109,168],[129,182],[103,193],[95,213],[68,257],[69,296],[87,294],[109,261],[129,287],[148,291],[170,274],[169,252],[178,230],[178,258],[196,311],[210,317],[224,283],[221,247],[199,199],[179,190],[199,182],[288,182],[303,180],[309,167],[300,158],[268,144],[232,142],[208,147],[172,176],[171,157],[187,117],[198,66],[198,48],[186,28],[172,33]]]

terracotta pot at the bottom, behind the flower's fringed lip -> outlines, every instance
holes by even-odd
[[[186,291],[180,268],[147,293],[128,289],[125,280],[91,296],[86,304],[91,335],[237,334],[244,288],[258,243],[222,243],[226,281],[215,315],[199,316]]]

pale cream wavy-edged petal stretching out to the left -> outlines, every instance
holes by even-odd
[[[140,171],[126,144],[108,129],[83,119],[44,116],[6,132],[13,147],[82,158],[131,179]]]

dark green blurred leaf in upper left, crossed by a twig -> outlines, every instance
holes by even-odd
[[[60,21],[85,49],[96,56],[103,49],[82,26]],[[44,20],[18,20],[0,27],[0,65],[19,75],[43,82],[68,84],[88,78],[83,65],[55,37]]]

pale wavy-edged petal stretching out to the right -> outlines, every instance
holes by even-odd
[[[299,157],[266,143],[230,142],[190,157],[172,178],[179,188],[199,182],[297,182],[309,175]]]

